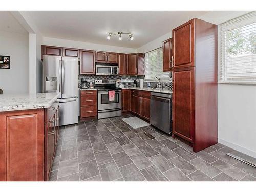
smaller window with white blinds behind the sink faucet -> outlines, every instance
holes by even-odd
[[[163,48],[159,48],[145,54],[145,81],[158,82],[154,77],[160,78],[161,82],[170,81],[170,73],[163,72]]]

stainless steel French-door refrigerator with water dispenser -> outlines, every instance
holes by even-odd
[[[44,92],[59,92],[60,126],[78,122],[78,58],[44,55]]]

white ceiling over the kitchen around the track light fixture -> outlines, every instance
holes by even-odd
[[[127,48],[139,48],[187,20],[208,11],[29,11],[45,37],[93,42]],[[106,39],[108,32],[129,31]]]

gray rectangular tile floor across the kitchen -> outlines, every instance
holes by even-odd
[[[194,153],[153,126],[133,129],[121,120],[132,116],[61,127],[50,181],[256,181],[256,168],[225,153],[255,158],[219,143]]]

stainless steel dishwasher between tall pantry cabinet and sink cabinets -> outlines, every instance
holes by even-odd
[[[151,92],[150,124],[167,134],[172,132],[172,94]]]

